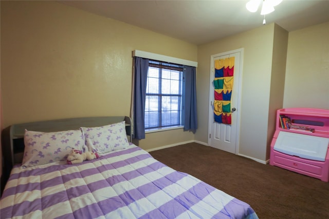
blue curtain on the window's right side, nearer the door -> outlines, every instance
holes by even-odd
[[[183,112],[184,131],[195,133],[197,129],[196,114],[196,70],[192,66],[183,67]]]

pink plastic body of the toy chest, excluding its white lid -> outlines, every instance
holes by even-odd
[[[292,130],[282,127],[280,115],[290,119],[293,125],[308,126],[314,129],[314,132],[305,132],[302,130]],[[315,108],[285,108],[277,110],[276,131],[272,138],[270,150],[270,165],[278,166],[290,171],[311,177],[319,178],[324,182],[329,181],[329,145],[325,146],[326,151],[322,154],[324,161],[303,158],[299,154],[287,154],[275,150],[275,145],[280,132],[291,132],[302,135],[318,136],[320,138],[329,138],[329,110]],[[284,133],[287,134],[287,133]],[[298,135],[297,135],[298,137]],[[307,136],[306,136],[307,137]],[[298,139],[296,139],[298,147]],[[314,147],[312,141],[308,142],[309,147]],[[307,144],[308,144],[307,143]],[[323,150],[322,150],[323,151]]]

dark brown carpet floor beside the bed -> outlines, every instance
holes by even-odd
[[[259,218],[329,218],[329,183],[197,143],[150,152],[248,203]]]

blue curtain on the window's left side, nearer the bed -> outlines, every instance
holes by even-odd
[[[145,138],[145,98],[149,59],[135,57],[134,76],[134,138]]]

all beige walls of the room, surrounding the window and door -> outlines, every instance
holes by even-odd
[[[131,51],[138,49],[198,62],[199,128],[195,135],[149,133],[135,143],[207,144],[210,55],[244,48],[239,153],[266,161],[276,109],[329,109],[328,30],[324,23],[287,40],[284,29],[269,24],[196,46],[60,3],[1,1],[1,122],[129,115]]]

